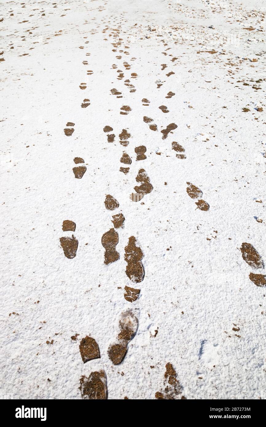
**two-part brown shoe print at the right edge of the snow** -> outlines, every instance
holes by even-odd
[[[260,254],[251,243],[244,242],[240,247],[243,260],[254,270],[264,269],[264,262]],[[266,286],[266,275],[250,273],[249,279],[258,287]]]

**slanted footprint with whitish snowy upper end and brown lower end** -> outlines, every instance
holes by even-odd
[[[138,320],[132,311],[121,313],[119,319],[119,333],[114,344],[108,347],[108,357],[114,365],[119,365],[126,356],[127,345],[137,333]]]

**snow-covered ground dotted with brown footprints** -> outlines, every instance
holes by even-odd
[[[1,395],[80,399],[102,370],[109,399],[171,398],[170,367],[177,399],[266,398],[262,7],[0,4]],[[114,365],[125,312],[138,329]],[[83,363],[86,336],[100,358]]]

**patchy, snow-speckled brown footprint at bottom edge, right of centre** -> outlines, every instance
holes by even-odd
[[[167,363],[165,367],[164,390],[156,392],[155,398],[159,400],[186,399],[184,396],[181,396],[182,387],[176,378],[177,375],[172,364]]]

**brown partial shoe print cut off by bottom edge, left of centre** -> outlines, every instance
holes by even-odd
[[[107,399],[106,375],[104,371],[91,372],[89,377],[82,375],[80,378],[80,392],[82,399],[105,400]]]

